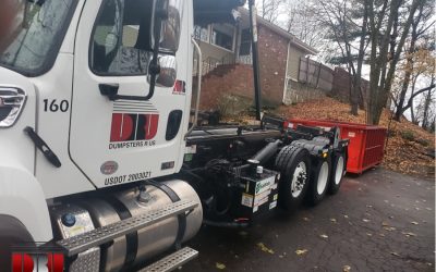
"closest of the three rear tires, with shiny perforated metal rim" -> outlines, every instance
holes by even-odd
[[[301,205],[308,187],[310,153],[301,147],[283,147],[276,158],[276,169],[280,171],[279,203],[291,211]]]

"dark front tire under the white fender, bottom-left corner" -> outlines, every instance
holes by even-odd
[[[15,218],[0,215],[0,268],[2,271],[12,271],[11,247],[32,246],[35,243],[27,228]]]

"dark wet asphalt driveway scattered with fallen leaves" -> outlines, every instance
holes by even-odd
[[[179,271],[435,271],[435,182],[383,169],[246,230],[203,227]]]

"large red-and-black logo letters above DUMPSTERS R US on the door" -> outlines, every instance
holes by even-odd
[[[158,124],[159,114],[112,113],[110,141],[153,139]]]

